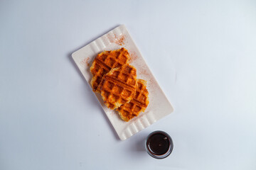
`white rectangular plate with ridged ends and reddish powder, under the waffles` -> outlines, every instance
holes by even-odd
[[[72,57],[75,64],[78,65],[78,68],[82,72],[82,75],[90,84],[90,80],[92,79],[90,66],[96,55],[105,50],[117,50],[121,47],[125,47],[131,55],[132,59],[130,60],[130,64],[136,67],[137,78],[147,81],[149,106],[146,108],[144,113],[140,113],[136,118],[133,118],[129,122],[125,122],[119,117],[117,111],[112,111],[105,106],[100,94],[95,93],[95,95],[107,114],[107,118],[110,119],[117,135],[121,140],[126,140],[137,132],[153,124],[156,120],[169,115],[174,111],[174,108],[171,106],[171,103],[168,101],[159,84],[156,82],[156,79],[144,61],[142,54],[139,52],[124,25],[114,28],[109,33],[90,42],[90,44],[82,47],[80,50],[73,52]]]

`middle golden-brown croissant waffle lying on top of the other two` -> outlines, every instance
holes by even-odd
[[[111,69],[100,84],[102,99],[108,108],[119,108],[132,100],[137,89],[137,70],[129,64]]]

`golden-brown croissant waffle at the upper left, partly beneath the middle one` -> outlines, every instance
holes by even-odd
[[[100,82],[102,77],[110,72],[110,69],[122,67],[129,62],[129,52],[122,47],[119,50],[101,52],[92,62],[90,72],[92,73],[92,90],[100,92]]]

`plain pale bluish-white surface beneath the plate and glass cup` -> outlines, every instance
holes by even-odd
[[[70,57],[122,23],[174,105],[124,142]],[[0,1],[0,169],[256,169],[255,30],[255,1]]]

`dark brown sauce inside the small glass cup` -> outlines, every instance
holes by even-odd
[[[161,132],[157,132],[146,141],[149,152],[156,155],[166,154],[170,147],[169,137]]]

